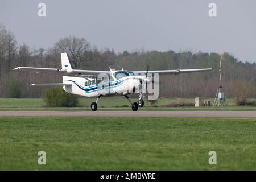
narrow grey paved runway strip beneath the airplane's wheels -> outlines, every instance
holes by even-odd
[[[256,111],[0,111],[0,117],[5,116],[256,118]]]

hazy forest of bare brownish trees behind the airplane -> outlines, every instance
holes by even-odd
[[[113,49],[98,49],[85,38],[67,36],[50,48],[33,49],[18,44],[15,35],[0,25],[0,97],[42,97],[48,88],[31,87],[33,83],[62,82],[59,75],[49,73],[15,72],[15,67],[61,68],[60,53],[67,52],[74,69],[131,71],[154,69],[213,68],[210,72],[185,73],[159,77],[159,97],[214,98],[218,80],[218,60],[222,56],[222,86],[226,97],[255,97],[256,64],[242,62],[224,52],[138,51],[116,53]]]

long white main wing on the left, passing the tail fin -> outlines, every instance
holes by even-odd
[[[32,71],[42,73],[57,73],[60,75],[75,76],[75,75],[99,75],[105,73],[110,75],[110,71],[95,71],[95,70],[82,70],[82,69],[58,69],[58,68],[36,68],[36,67],[17,67],[13,70],[19,71]]]

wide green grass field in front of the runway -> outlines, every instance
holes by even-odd
[[[0,169],[255,170],[255,128],[256,119],[0,117]]]

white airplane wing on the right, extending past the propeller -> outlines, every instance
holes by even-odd
[[[134,71],[134,73],[141,74],[141,73],[159,73],[159,75],[177,75],[180,73],[192,73],[192,72],[205,72],[210,71],[212,68],[205,68],[205,69],[171,69],[171,70],[155,70],[155,71]]]

